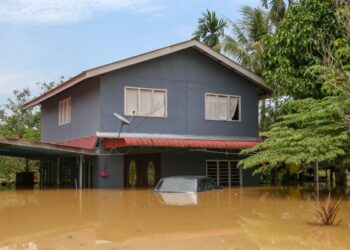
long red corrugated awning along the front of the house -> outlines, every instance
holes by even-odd
[[[159,138],[105,138],[105,149],[123,147],[174,147],[174,148],[212,148],[212,149],[245,149],[261,141],[228,141],[228,140],[191,140]]]

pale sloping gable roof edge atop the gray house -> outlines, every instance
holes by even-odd
[[[44,94],[34,98],[33,100],[25,103],[23,105],[23,109],[31,108],[35,105],[40,104],[41,102],[57,95],[58,93],[82,82],[83,80],[89,79],[91,77],[99,76],[114,70],[118,70],[121,68],[125,68],[131,65],[135,65],[141,62],[145,62],[148,60],[152,60],[161,56],[169,55],[181,50],[185,50],[188,48],[194,48],[201,53],[205,54],[206,56],[210,57],[211,59],[219,62],[226,68],[233,70],[237,74],[241,75],[242,77],[250,80],[253,82],[257,87],[259,87],[261,90],[263,90],[263,93],[266,95],[270,95],[272,93],[272,89],[268,87],[265,83],[265,81],[259,77],[257,74],[253,73],[252,71],[242,67],[241,65],[235,63],[228,57],[216,52],[215,50],[211,49],[210,47],[204,45],[203,43],[192,39],[185,42],[177,43],[174,45],[170,45],[168,47],[164,47],[161,49],[157,49],[154,51],[150,51],[144,54],[140,54],[137,56],[133,56],[124,60],[116,61],[110,64],[106,64],[100,67],[96,67],[93,69],[89,69],[86,71],[81,72],[80,74],[72,77],[71,79],[67,80],[66,82],[63,82],[56,87],[50,89],[49,91],[45,92]]]

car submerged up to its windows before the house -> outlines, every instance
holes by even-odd
[[[160,193],[190,193],[220,189],[216,181],[206,176],[173,176],[161,179],[154,191]]]

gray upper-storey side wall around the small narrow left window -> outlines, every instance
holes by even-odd
[[[71,123],[58,125],[59,101],[72,98]],[[88,79],[41,104],[41,140],[63,141],[95,135],[100,128],[100,82]]]

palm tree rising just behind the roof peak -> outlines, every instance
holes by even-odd
[[[220,51],[220,38],[224,36],[226,21],[218,19],[215,11],[207,10],[202,15],[198,19],[198,27],[193,36],[216,51]]]

